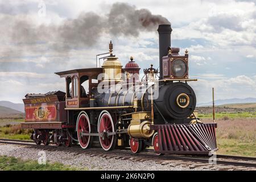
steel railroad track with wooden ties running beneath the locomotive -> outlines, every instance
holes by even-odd
[[[151,150],[143,151],[139,154],[132,154],[130,150],[104,151],[101,148],[82,149],[78,145],[73,147],[57,147],[55,145],[38,146],[32,140],[0,139],[0,143],[16,144],[38,148],[48,151],[67,151],[74,155],[87,154],[90,156],[101,156],[106,159],[133,160],[135,162],[144,162],[154,160],[156,163],[170,166],[182,166],[189,168],[203,167],[205,169],[215,170],[246,170],[256,171],[256,158],[232,155],[216,156],[185,156],[185,155],[155,155]],[[210,161],[210,162],[209,162]]]

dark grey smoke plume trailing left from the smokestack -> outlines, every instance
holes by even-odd
[[[1,10],[0,10],[1,12]],[[20,56],[21,53],[42,52],[52,49],[68,52],[70,49],[92,46],[104,33],[114,36],[138,36],[142,31],[156,31],[158,24],[170,24],[161,15],[153,15],[147,9],[136,9],[127,3],[114,3],[108,14],[81,13],[76,19],[64,20],[59,25],[36,25],[26,15],[0,16],[1,41],[19,46],[19,51],[2,50],[3,56]]]

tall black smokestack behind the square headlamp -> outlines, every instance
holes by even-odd
[[[168,47],[171,47],[171,32],[171,24],[160,24],[158,27],[160,79],[163,79],[162,57],[168,55]]]

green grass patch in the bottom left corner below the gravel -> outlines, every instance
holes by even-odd
[[[0,156],[0,171],[74,171],[88,170],[87,168],[75,168],[61,163],[38,164],[35,160],[22,160],[14,157]]]

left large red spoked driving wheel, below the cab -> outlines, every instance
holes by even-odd
[[[82,133],[90,133],[90,121],[88,115],[85,112],[81,112],[77,119],[77,138],[82,148],[89,148],[92,144],[92,138],[89,135],[82,136]]]

